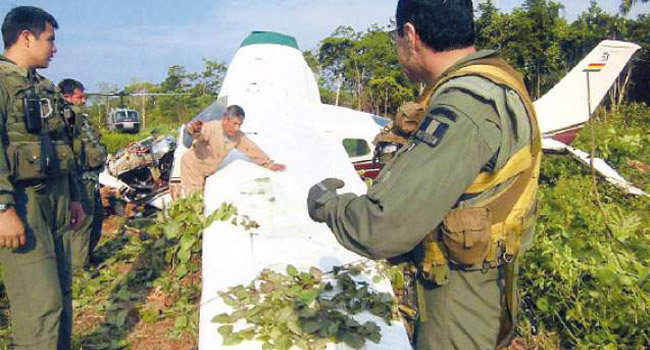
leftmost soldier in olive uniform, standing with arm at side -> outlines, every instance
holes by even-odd
[[[0,262],[16,349],[71,347],[65,247],[83,209],[63,96],[36,73],[56,52],[57,27],[31,6],[12,9],[2,24]]]

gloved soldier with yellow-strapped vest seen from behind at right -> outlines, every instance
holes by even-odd
[[[473,47],[469,0],[400,0],[400,64],[426,114],[367,195],[338,179],[308,194],[310,217],[347,249],[417,267],[417,349],[506,346],[517,259],[536,220],[541,143],[521,77]]]

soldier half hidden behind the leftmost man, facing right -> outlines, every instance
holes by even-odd
[[[99,173],[102,172],[108,153],[100,142],[101,134],[83,112],[86,104],[84,86],[74,79],[64,79],[59,89],[66,102],[72,105],[75,125],[73,149],[77,156],[77,168],[81,171],[84,193],[82,203],[86,217],[81,228],[70,237],[72,267],[79,269],[92,260],[92,254],[99,243],[104,213],[99,195]]]

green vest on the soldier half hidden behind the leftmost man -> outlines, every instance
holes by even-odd
[[[75,115],[75,139],[73,149],[79,168],[83,171],[98,171],[108,158],[106,147],[99,142],[101,134],[95,128],[81,108],[72,108]]]

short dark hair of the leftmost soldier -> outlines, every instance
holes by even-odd
[[[5,49],[10,48],[18,40],[18,35],[23,30],[29,30],[36,37],[39,37],[45,30],[45,24],[49,23],[54,29],[59,29],[59,24],[54,16],[45,10],[34,6],[14,7],[5,16],[2,22],[2,40]]]

